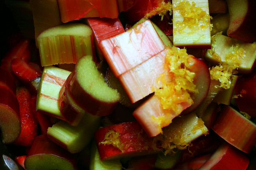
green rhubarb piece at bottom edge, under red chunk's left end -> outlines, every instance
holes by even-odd
[[[121,170],[120,159],[100,160],[100,154],[95,142],[92,143],[90,150],[90,170]]]

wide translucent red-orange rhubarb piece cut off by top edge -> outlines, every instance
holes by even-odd
[[[118,18],[116,0],[57,0],[61,21],[79,20],[87,17]]]

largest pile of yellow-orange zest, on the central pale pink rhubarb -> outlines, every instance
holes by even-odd
[[[186,53],[186,49],[167,48],[164,64],[170,70],[168,74],[171,78],[166,80],[166,74],[161,74],[159,79],[164,86],[154,91],[164,109],[180,114],[183,111],[183,102],[193,104],[190,93],[198,93],[193,83],[195,73],[188,70],[190,56]]]

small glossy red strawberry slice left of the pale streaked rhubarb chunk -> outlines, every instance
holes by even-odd
[[[22,81],[30,82],[41,76],[41,72],[32,65],[26,63],[20,58],[13,59],[11,62],[12,71]]]

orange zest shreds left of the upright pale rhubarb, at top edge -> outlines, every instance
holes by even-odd
[[[168,16],[168,13],[172,15],[172,3],[168,1],[167,3],[162,0],[159,5],[153,10],[148,12],[144,18],[151,18],[154,15],[161,16],[161,20],[163,20],[164,16]]]

